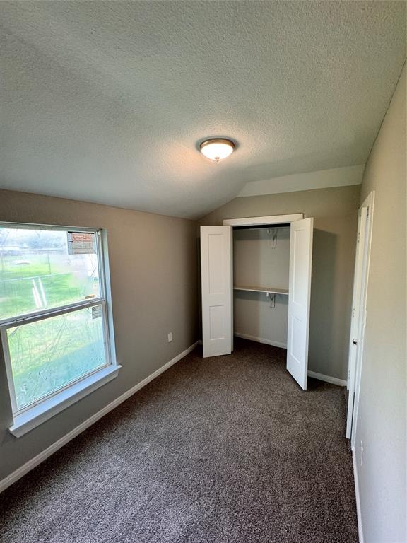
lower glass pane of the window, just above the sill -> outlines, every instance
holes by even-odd
[[[8,328],[18,409],[107,363],[102,306]]]

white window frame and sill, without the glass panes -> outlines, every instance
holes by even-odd
[[[32,430],[35,426],[59,413],[69,405],[77,402],[79,399],[88,395],[98,387],[105,385],[110,380],[117,377],[117,373],[122,366],[119,366],[116,361],[114,349],[114,333],[113,319],[111,311],[111,292],[109,281],[109,262],[107,258],[107,235],[105,230],[101,228],[79,228],[60,225],[42,225],[42,224],[25,224],[25,223],[6,223],[0,222],[3,228],[13,229],[33,229],[33,230],[61,230],[63,232],[78,232],[78,233],[94,233],[97,244],[98,255],[98,271],[99,271],[99,288],[98,297],[89,298],[88,300],[79,300],[78,302],[61,305],[57,308],[50,308],[40,311],[33,311],[26,315],[18,315],[16,317],[8,317],[0,320],[0,339],[6,366],[6,375],[8,381],[9,400],[11,411],[13,413],[13,424],[8,428],[9,431],[16,437],[23,436],[24,433]],[[95,305],[100,305],[102,308],[103,333],[105,345],[105,361],[103,366],[91,370],[85,375],[81,375],[63,387],[49,392],[46,396],[37,399],[18,409],[16,402],[16,392],[14,388],[13,371],[11,367],[11,356],[8,347],[7,329],[18,325],[25,325],[31,322],[38,322],[49,317],[58,315],[66,315],[85,308],[92,308]]]

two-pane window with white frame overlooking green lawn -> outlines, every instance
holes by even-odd
[[[110,351],[101,236],[0,224],[0,332],[15,424],[30,412],[43,419],[58,399],[71,399],[73,385],[76,392],[94,387],[119,368]]]

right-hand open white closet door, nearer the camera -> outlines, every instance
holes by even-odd
[[[313,218],[291,223],[287,369],[307,390]]]

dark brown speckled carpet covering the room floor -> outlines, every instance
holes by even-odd
[[[1,543],[358,542],[344,409],[281,349],[197,349],[1,494]]]

